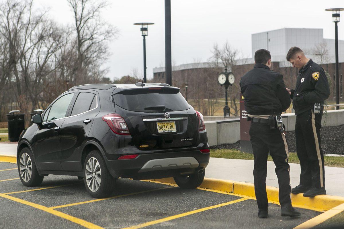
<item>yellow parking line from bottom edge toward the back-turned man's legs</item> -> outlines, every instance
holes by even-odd
[[[172,219],[178,219],[178,218],[181,218],[181,217],[184,217],[184,216],[189,216],[189,215],[196,214],[196,213],[199,213],[199,212],[202,212],[202,211],[206,211],[206,210],[210,210],[210,209],[214,209],[214,208],[218,208],[218,207],[227,206],[227,205],[230,205],[230,204],[235,204],[235,203],[238,203],[238,202],[241,202],[241,201],[246,201],[246,200],[247,200],[246,198],[236,199],[235,201],[229,201],[229,202],[226,202],[226,203],[223,203],[223,204],[217,204],[217,205],[213,205],[213,206],[209,206],[209,207],[205,207],[205,208],[200,208],[200,209],[197,209],[197,210],[188,211],[188,212],[185,212],[185,213],[182,213],[182,214],[165,217],[165,218],[158,219],[158,220],[149,221],[149,222],[145,222],[143,224],[138,224],[138,225],[135,225],[135,226],[126,227],[126,228],[122,228],[122,229],[138,229],[138,228],[143,228],[143,227],[151,226],[151,225],[154,225],[154,224],[160,224],[161,222],[170,221]]]

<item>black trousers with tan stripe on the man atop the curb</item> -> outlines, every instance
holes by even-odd
[[[300,160],[300,184],[325,187],[324,154],[320,145],[321,115],[308,110],[296,116],[296,150]]]

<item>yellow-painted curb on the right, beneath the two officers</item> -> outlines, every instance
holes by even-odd
[[[165,179],[154,179],[154,181],[172,183],[175,184],[173,178]],[[200,185],[201,188],[208,188],[217,191],[230,192],[238,195],[245,195],[255,198],[254,184],[237,182],[230,180],[220,180],[212,178],[204,178],[203,183]],[[278,188],[277,187],[266,187],[268,199],[270,202],[278,202]],[[304,197],[303,194],[291,194],[291,201],[294,207],[300,207],[315,211],[327,211],[340,204],[344,203],[344,197],[330,196],[330,195],[319,195],[315,197]]]

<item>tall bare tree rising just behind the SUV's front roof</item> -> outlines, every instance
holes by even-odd
[[[101,19],[101,11],[108,5],[105,1],[68,0],[68,3],[73,11],[76,33],[77,61],[73,81],[78,84],[97,80],[106,73],[100,68],[101,61],[107,59],[107,42],[116,37],[118,30]],[[91,77],[89,66],[97,69]]]

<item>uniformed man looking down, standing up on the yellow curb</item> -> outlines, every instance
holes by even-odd
[[[294,90],[289,90],[296,114],[296,150],[300,160],[300,185],[291,193],[303,196],[326,194],[324,155],[320,145],[321,115],[330,87],[324,69],[308,59],[298,47],[292,47],[287,60],[299,69]]]

